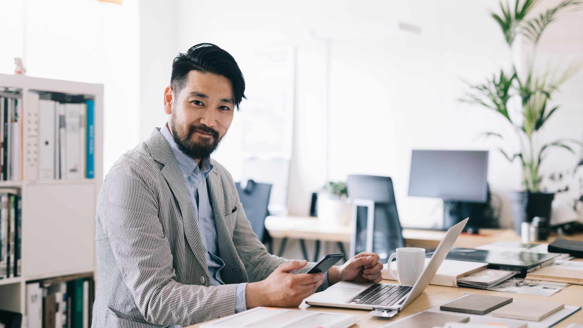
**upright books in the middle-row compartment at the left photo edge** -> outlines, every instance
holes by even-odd
[[[0,189],[0,279],[22,275],[22,197],[18,189]]]

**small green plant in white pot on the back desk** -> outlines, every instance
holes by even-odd
[[[326,225],[350,224],[346,182],[328,182],[318,192],[318,221]]]

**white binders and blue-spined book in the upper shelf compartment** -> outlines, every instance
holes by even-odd
[[[28,180],[93,179],[94,101],[83,96],[31,92],[27,96]],[[37,136],[34,135],[37,132]],[[38,142],[34,142],[36,139]]]

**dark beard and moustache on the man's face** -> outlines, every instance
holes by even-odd
[[[183,128],[177,128],[181,125],[176,124],[174,115],[170,118],[172,136],[174,137],[174,142],[178,146],[181,152],[185,153],[192,159],[206,159],[210,157],[219,146],[219,142],[222,138],[219,138],[219,132],[213,128],[209,128],[206,125],[189,125],[188,131],[184,131]],[[208,138],[198,138],[195,141],[192,135],[195,131],[200,131],[212,135]]]

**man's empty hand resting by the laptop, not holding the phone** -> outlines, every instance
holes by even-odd
[[[328,270],[328,284],[339,281],[379,282],[382,280],[382,264],[378,254],[362,252],[356,254],[342,266],[334,266]]]

